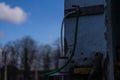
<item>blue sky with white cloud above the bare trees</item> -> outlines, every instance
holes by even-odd
[[[42,44],[60,37],[64,0],[0,0],[0,44],[31,36]]]

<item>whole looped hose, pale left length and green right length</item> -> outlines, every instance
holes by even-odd
[[[77,43],[77,35],[78,35],[77,33],[78,33],[78,22],[79,22],[79,8],[77,8],[76,11],[74,11],[74,12],[76,12],[77,16],[76,16],[76,26],[75,26],[74,45],[73,45],[72,54],[71,54],[69,60],[68,60],[61,68],[59,68],[59,69],[57,69],[57,70],[53,70],[53,71],[47,72],[47,73],[45,73],[45,76],[46,76],[46,75],[48,76],[48,75],[57,73],[57,72],[61,71],[62,69],[64,69],[64,68],[70,63],[70,61],[72,60],[72,58],[73,58],[73,56],[74,56],[74,54],[75,54],[76,43]],[[65,18],[66,18],[68,15],[72,14],[72,13],[73,13],[73,12],[70,12],[69,14],[67,14],[67,15],[63,18],[62,25],[64,24]],[[61,34],[62,34],[62,30],[63,30],[63,26],[61,27]],[[61,35],[61,36],[62,36],[62,35]],[[62,39],[61,39],[61,47],[63,48]],[[62,49],[62,51],[63,51],[63,49]],[[64,51],[63,51],[63,52],[64,52]]]

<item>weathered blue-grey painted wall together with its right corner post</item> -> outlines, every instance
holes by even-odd
[[[105,2],[106,1],[106,2]],[[77,65],[86,65],[92,62],[93,54],[96,51],[106,51],[109,53],[110,61],[108,64],[108,80],[114,80],[114,62],[112,46],[112,19],[111,19],[111,1],[112,0],[65,0],[65,10],[71,9],[72,5],[80,7],[105,5],[108,21],[105,22],[105,13],[101,15],[81,16],[79,17],[79,32],[77,40],[77,49],[74,60]],[[107,5],[106,5],[107,3]],[[105,25],[105,23],[107,23]],[[106,26],[106,27],[105,27]],[[107,29],[106,29],[107,28]],[[68,44],[68,55],[72,50],[74,42],[75,18],[69,18],[65,21],[65,38]],[[106,32],[106,36],[104,36]],[[105,40],[106,39],[106,40]],[[88,58],[86,61],[85,58]]]

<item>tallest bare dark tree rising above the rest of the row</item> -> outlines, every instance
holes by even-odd
[[[36,57],[37,45],[36,42],[29,36],[20,40],[20,58],[21,64],[24,69],[24,78],[29,80],[29,72],[32,67],[33,61]]]

